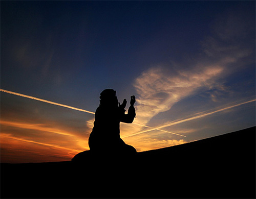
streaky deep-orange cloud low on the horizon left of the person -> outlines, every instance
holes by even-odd
[[[50,123],[50,122],[49,122]],[[52,123],[1,120],[1,161],[67,161],[87,150],[86,138]],[[53,125],[53,126],[51,126]],[[15,158],[14,158],[15,157]],[[14,160],[12,160],[14,158]]]

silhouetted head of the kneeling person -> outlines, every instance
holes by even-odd
[[[113,107],[118,106],[116,91],[113,89],[105,89],[100,93],[100,106]]]

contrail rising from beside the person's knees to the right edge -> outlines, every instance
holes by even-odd
[[[240,103],[240,104],[237,104],[237,105],[233,105],[233,106],[230,106],[230,107],[219,109],[217,111],[212,111],[210,113],[205,113],[205,114],[202,114],[202,115],[198,115],[198,116],[195,116],[195,117],[190,117],[190,118],[187,118],[187,119],[182,119],[182,120],[179,120],[179,121],[171,122],[171,123],[168,123],[167,125],[163,125],[163,126],[158,127],[158,128],[152,128],[152,129],[149,129],[149,130],[146,130],[146,131],[141,131],[141,132],[138,132],[138,133],[135,133],[135,134],[132,134],[132,135],[127,135],[125,137],[131,137],[131,136],[134,136],[134,135],[139,135],[139,134],[154,131],[154,130],[159,130],[159,129],[162,129],[162,128],[165,128],[165,127],[178,125],[179,123],[183,123],[183,122],[190,121],[190,120],[193,120],[193,119],[198,119],[198,118],[201,118],[201,117],[205,117],[205,116],[208,116],[208,115],[211,115],[211,114],[214,114],[214,113],[225,111],[227,109],[231,109],[231,108],[238,107],[238,106],[241,106],[241,105],[244,105],[244,104],[247,104],[247,103],[251,103],[251,102],[255,102],[255,101],[256,101],[256,99],[252,99],[252,100],[244,102],[244,103]]]

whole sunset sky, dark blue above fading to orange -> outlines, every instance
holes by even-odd
[[[255,126],[255,1],[1,1],[0,87],[1,162],[89,150],[106,88],[138,152]]]

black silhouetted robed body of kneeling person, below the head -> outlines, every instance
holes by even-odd
[[[120,138],[120,122],[132,123],[135,115],[134,106],[130,106],[125,114],[125,109],[118,106],[100,105],[95,112],[94,127],[89,137],[90,150],[99,153],[135,153],[135,148]]]

